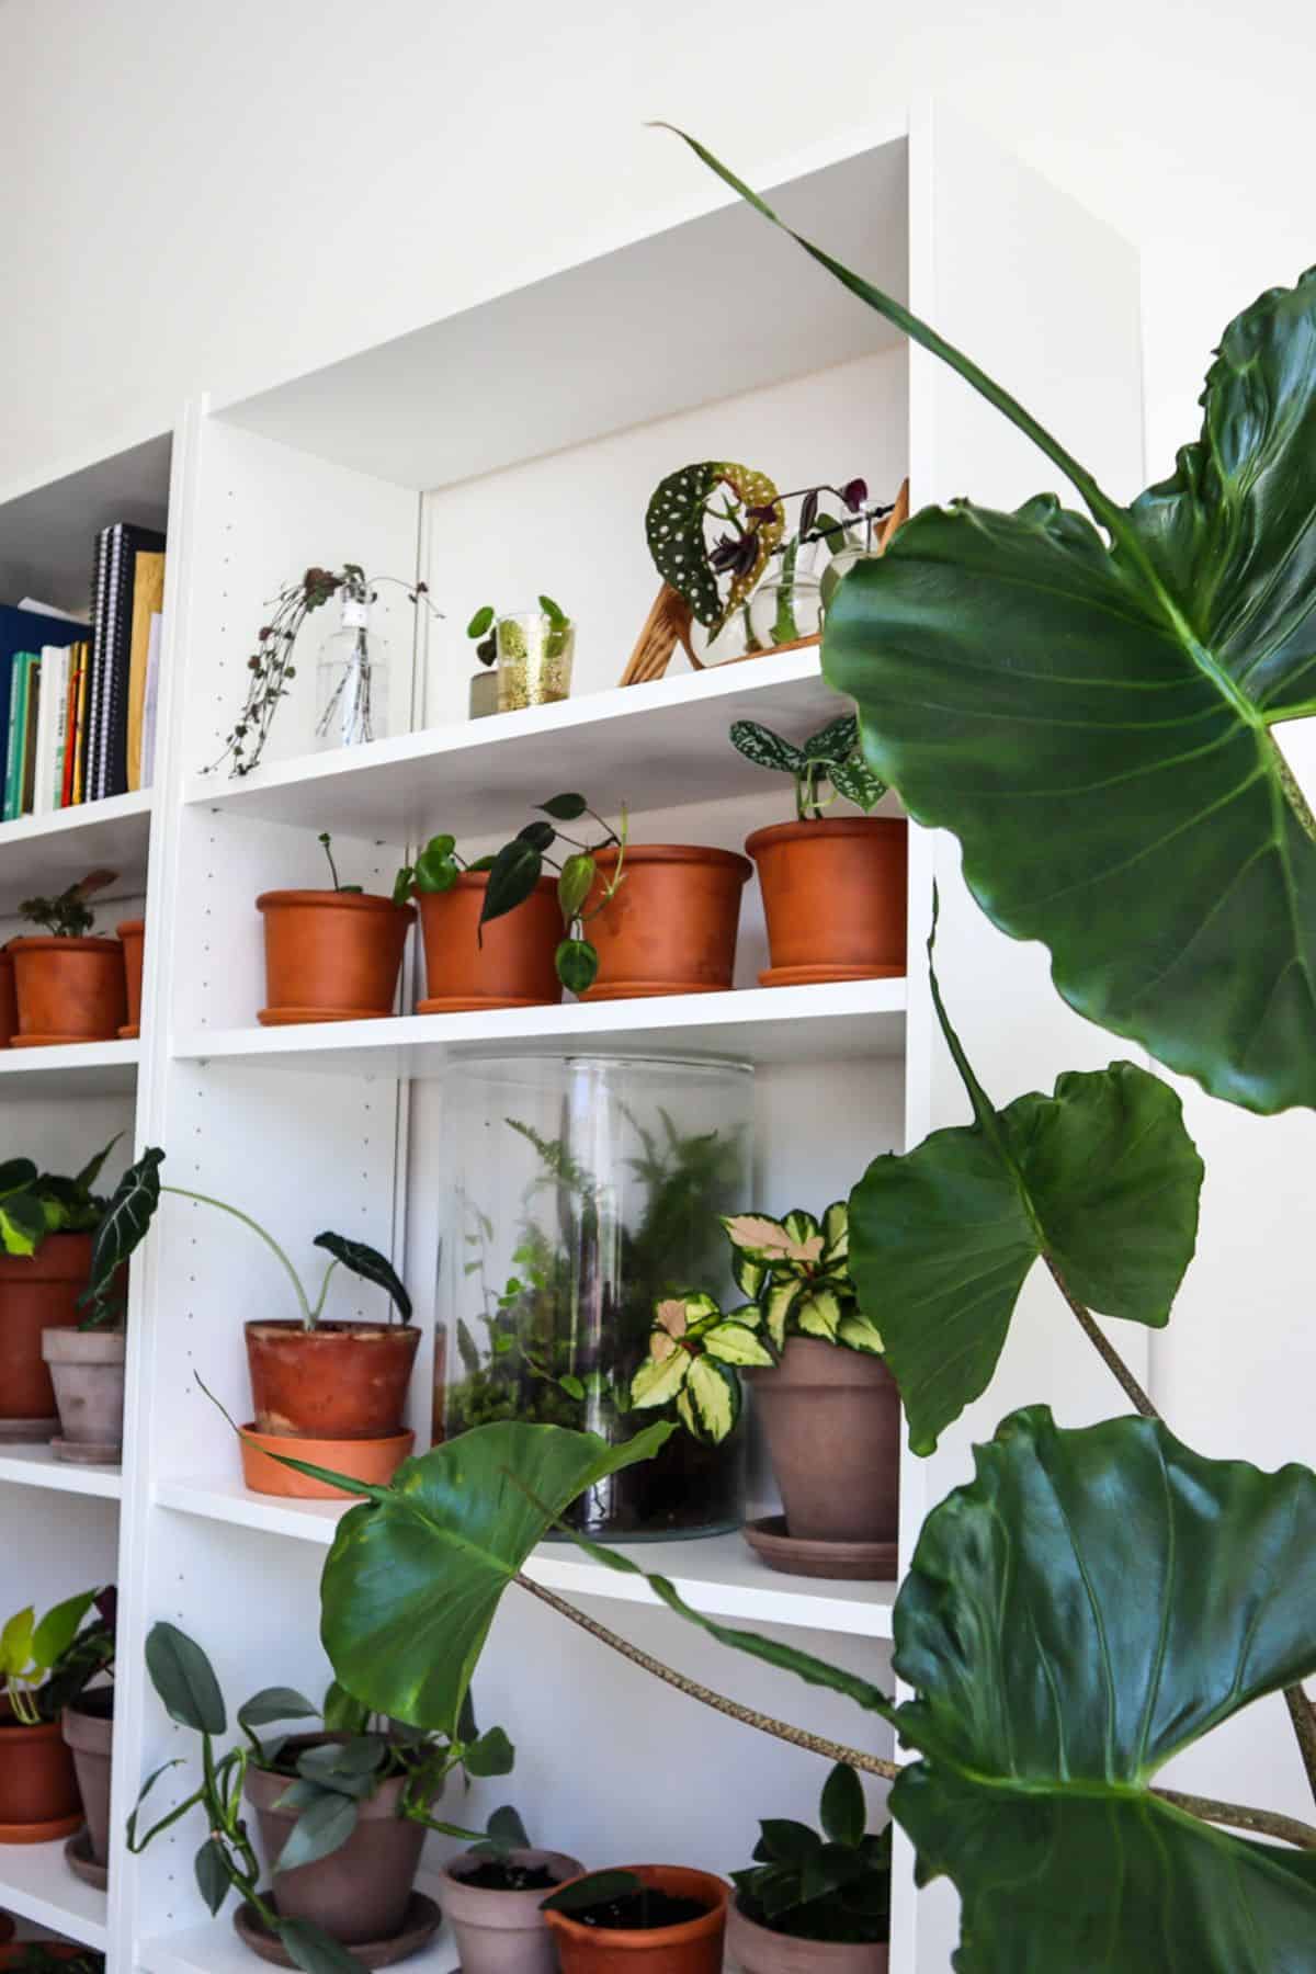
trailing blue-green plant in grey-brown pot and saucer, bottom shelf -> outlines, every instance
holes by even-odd
[[[164,1771],[150,1777],[128,1820],[130,1852],[144,1852],[185,1810],[201,1806],[209,1834],[195,1875],[205,1903],[217,1915],[237,1891],[239,1936],[262,1958],[272,1958],[276,1940],[288,1966],[324,1966],[329,1974],[363,1964],[353,1954],[333,1958],[329,1942],[359,1946],[371,1954],[365,1964],[381,1966],[375,1954],[404,1958],[438,1931],[438,1905],[414,1889],[432,1824],[428,1810],[454,1769],[470,1777],[511,1769],[513,1749],[501,1727],[477,1733],[468,1708],[464,1733],[444,1739],[379,1719],[337,1686],[324,1708],[272,1686],[239,1708],[243,1741],[217,1753],[229,1719],[203,1648],[174,1625],[154,1625],[146,1668],[170,1717],[201,1735],[201,1777],[183,1802],[138,1834],[142,1802]],[[260,1735],[278,1721],[312,1717],[322,1723],[312,1733],[278,1733],[270,1741]],[[243,1804],[256,1820],[272,1879],[266,1891]]]

